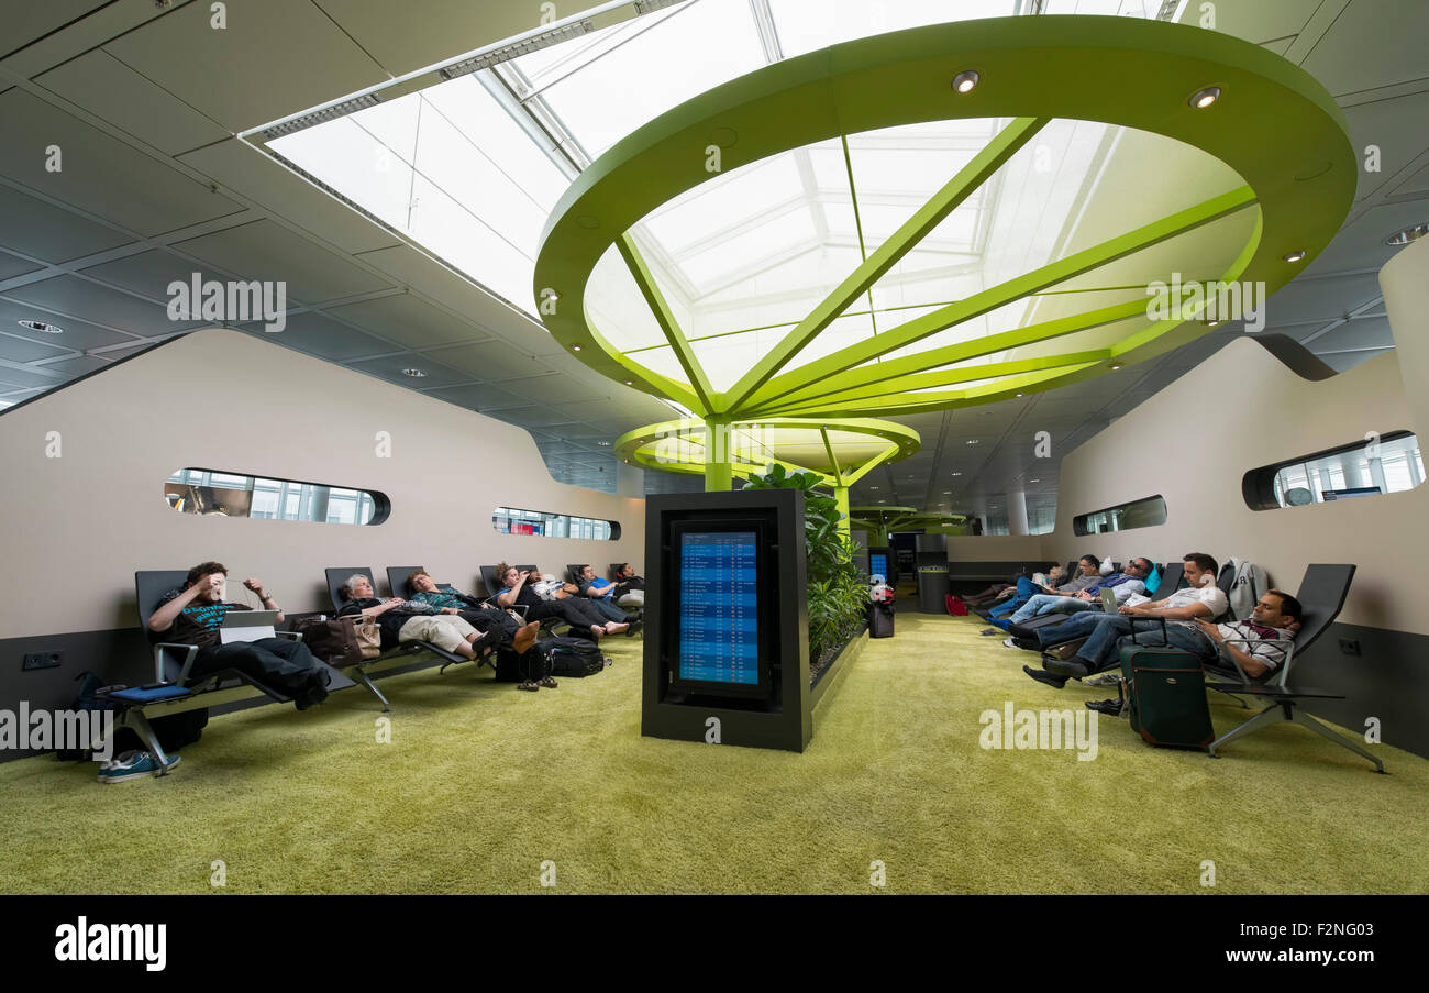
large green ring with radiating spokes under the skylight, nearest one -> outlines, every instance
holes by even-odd
[[[957,94],[950,80],[967,69],[975,69],[980,81],[970,93]],[[1220,87],[1220,99],[1205,110],[1192,107],[1189,97],[1206,86]],[[1052,119],[1105,121],[1176,139],[1223,161],[1246,186],[993,287],[996,299],[980,300],[990,290],[975,294],[943,309],[946,314],[935,311],[880,333],[876,341],[860,341],[783,376],[780,370],[802,346],[776,346],[732,390],[714,393],[649,273],[642,279],[644,264],[627,230],[652,210],[712,179],[704,167],[712,144],[722,149],[727,171],[839,136],[973,117],[1010,117],[1013,123],[963,170],[966,177],[960,173],[945,190],[953,206]],[[1040,16],[937,24],[776,63],[709,90],[640,127],[582,173],[556,206],[543,231],[533,290],[547,304],[542,313],[550,333],[587,366],[673,399],[710,420],[772,413],[916,413],[1087,379],[1106,371],[1113,361],[1140,361],[1185,344],[1205,333],[1206,324],[1152,321],[1096,353],[999,363],[995,374],[1005,376],[999,381],[952,393],[913,393],[926,380],[900,380],[900,370],[937,369],[1109,324],[1137,316],[1145,306],[1106,307],[1042,327],[989,336],[967,347],[937,350],[949,353],[937,356],[939,361],[919,364],[913,356],[883,361],[876,370],[865,363],[993,306],[1252,206],[1258,209],[1252,237],[1219,279],[1260,281],[1268,294],[1273,293],[1329,243],[1353,201],[1355,186],[1356,157],[1343,114],[1330,94],[1298,66],[1248,41],[1127,17]],[[933,206],[930,201],[923,210]],[[689,383],[640,366],[587,323],[586,286],[612,246],[624,254]],[[1286,256],[1296,251],[1305,253],[1303,257],[1288,261]],[[857,296],[860,290],[849,291],[850,280],[860,271],[867,276],[876,256],[877,251],[786,341],[803,336],[807,344],[820,330],[820,320]],[[987,303],[992,306],[983,306]],[[945,323],[937,324],[939,320]],[[850,376],[850,370],[863,376]],[[943,379],[942,384],[959,381],[957,374]],[[869,394],[870,383],[883,386]],[[800,391],[809,397],[816,386],[830,396],[830,403],[800,407],[790,400],[790,394]]]

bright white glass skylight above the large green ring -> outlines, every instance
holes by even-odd
[[[664,110],[772,57],[922,24],[1025,13],[1025,6],[767,0],[772,17],[759,21],[749,0],[692,0],[276,139],[270,147],[534,316],[537,239],[574,169],[556,151],[557,143],[573,137],[593,159]],[[1150,17],[1160,0],[1045,6],[1047,13]],[[519,100],[506,94],[497,74]],[[825,141],[717,176],[632,229],[714,389],[732,386],[777,344],[863,253],[896,231],[1006,123],[933,121],[855,134],[847,159],[839,140]],[[1050,123],[789,369],[1239,184],[1209,157],[1172,146],[1097,123]],[[1149,171],[1143,161],[1157,161],[1157,169]],[[1243,226],[1249,216],[1228,221]],[[1198,264],[1222,264],[1222,236],[1185,236],[1203,240],[1193,246]],[[1135,281],[1142,270],[1156,271],[1155,251],[1077,283],[1096,289],[1112,276]],[[896,354],[1046,320],[1080,309],[1077,296],[1093,294],[1009,304]],[[616,347],[643,349],[639,359],[652,369],[686,379],[614,250],[592,276],[587,309]]]

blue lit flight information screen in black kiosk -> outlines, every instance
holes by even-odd
[[[680,534],[679,677],[759,684],[756,532]]]

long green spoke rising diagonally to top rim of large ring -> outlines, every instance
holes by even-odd
[[[982,151],[973,156],[943,189],[913,213],[877,250],[799,321],[783,340],[755,363],[726,393],[725,410],[743,410],[745,401],[770,377],[793,360],[819,333],[847,310],[849,304],[897,264],[923,237],[937,227],[959,204],[972,196],[987,179],[1002,169],[1017,150],[1030,141],[1047,123],[1046,117],[1017,117],[1005,127]],[[895,329],[896,330],[896,329]],[[882,336],[879,337],[882,340]]]

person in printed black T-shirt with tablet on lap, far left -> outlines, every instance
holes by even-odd
[[[259,683],[293,697],[293,706],[307,710],[327,699],[327,670],[302,642],[260,637],[256,642],[219,644],[219,626],[230,610],[252,610],[226,603],[223,593],[229,570],[221,562],[203,562],[189,570],[183,589],[170,590],[149,617],[149,630],[177,644],[197,644],[199,654],[189,670],[190,682],[220,669],[236,669]],[[257,594],[264,610],[280,610],[259,579],[243,586]],[[283,620],[282,612],[277,620]]]

